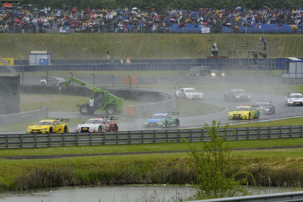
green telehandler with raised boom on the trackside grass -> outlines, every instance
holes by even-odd
[[[65,81],[63,86],[69,86],[72,81],[93,91],[91,98],[94,99],[94,110],[105,110],[108,115],[122,113],[123,98],[118,98],[117,96],[108,93],[108,90],[101,90],[75,77],[71,77],[68,81]],[[81,114],[90,114],[89,106],[88,101],[77,104]]]

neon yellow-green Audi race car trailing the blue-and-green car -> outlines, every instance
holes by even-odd
[[[256,105],[244,105],[239,106],[236,109],[232,109],[228,112],[228,119],[241,120],[241,119],[257,119],[260,117],[259,111],[256,109]]]

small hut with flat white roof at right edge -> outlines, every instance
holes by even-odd
[[[303,77],[303,60],[298,58],[285,58],[282,62],[282,77]]]

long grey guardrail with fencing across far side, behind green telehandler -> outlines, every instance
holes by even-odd
[[[72,72],[71,72],[72,73]],[[303,85],[303,78],[287,78],[287,77],[180,77],[180,76],[113,76],[113,75],[75,75],[75,74],[55,74],[50,72],[49,77],[62,77],[68,80],[70,77],[76,77],[81,81],[89,83],[93,86],[103,87],[121,87],[136,89],[140,85],[155,85],[167,84],[283,84],[283,85]],[[46,76],[46,75],[42,75]],[[20,78],[21,84],[39,84],[42,78],[37,76],[22,76]]]

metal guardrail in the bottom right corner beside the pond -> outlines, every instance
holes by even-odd
[[[276,194],[261,194],[261,195],[251,195],[251,196],[237,196],[229,198],[218,198],[218,199],[207,199],[207,200],[194,200],[190,202],[293,202],[293,201],[303,201],[303,191],[294,192],[284,192]],[[189,202],[189,201],[188,201]]]

